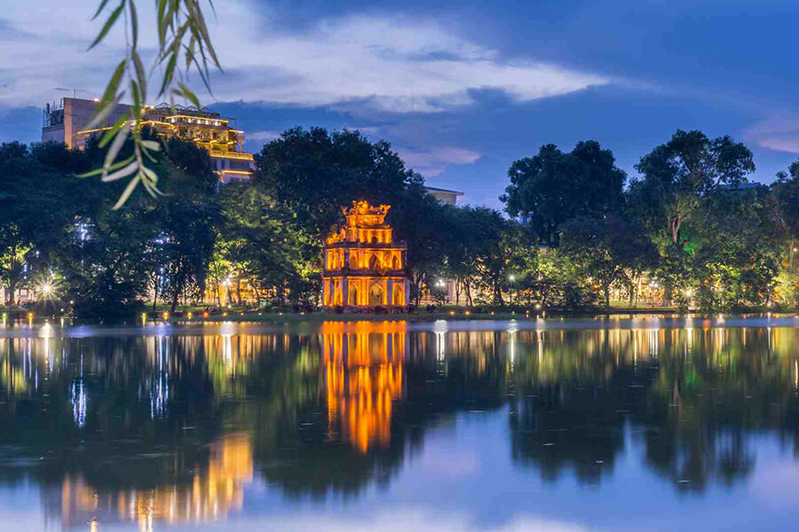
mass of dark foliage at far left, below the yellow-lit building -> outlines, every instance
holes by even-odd
[[[138,308],[154,277],[162,278],[173,308],[187,288],[202,289],[216,239],[217,176],[201,149],[178,140],[168,148],[153,163],[167,195],[133,198],[122,211],[112,207],[124,184],[98,187],[75,177],[106,157],[98,139],[83,152],[55,143],[0,147],[0,201],[8,201],[0,262],[8,293],[52,271],[79,315],[107,317]],[[129,140],[121,153],[134,150]]]

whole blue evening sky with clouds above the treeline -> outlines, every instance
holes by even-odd
[[[38,141],[45,102],[102,93],[124,35],[116,28],[86,51],[102,25],[91,21],[97,4],[4,5],[0,142]],[[138,5],[147,61],[154,14],[152,2]],[[676,129],[747,143],[763,183],[799,158],[799,2],[215,5],[210,33],[225,72],[212,95],[196,74],[189,81],[203,105],[237,119],[251,152],[295,126],[360,129],[389,141],[427,184],[498,208],[510,163],[544,144],[597,140],[630,177]]]

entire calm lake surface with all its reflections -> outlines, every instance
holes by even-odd
[[[0,329],[0,529],[787,530],[799,319]]]

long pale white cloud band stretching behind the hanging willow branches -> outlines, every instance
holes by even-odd
[[[41,105],[55,87],[99,94],[123,50],[121,31],[85,52],[102,20],[88,23],[93,3],[41,0],[9,6],[0,31],[6,104]],[[583,90],[610,80],[535,58],[502,59],[434,19],[346,16],[290,33],[254,16],[254,6],[229,1],[210,21],[225,75],[214,76],[219,100],[298,106],[359,102],[391,113],[438,113],[470,106],[470,90],[502,90],[519,101]],[[151,10],[140,10],[142,41],[154,43]],[[53,51],[58,51],[53,53]],[[152,50],[149,50],[152,56]],[[157,76],[156,76],[157,77]],[[152,92],[152,90],[151,90]]]

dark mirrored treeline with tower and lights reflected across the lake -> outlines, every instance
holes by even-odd
[[[608,325],[3,338],[0,487],[37,486],[64,528],[199,523],[244,511],[255,485],[389,488],[463,416],[500,417],[507,442],[482,451],[547,483],[611,482],[631,458],[699,496],[751,477],[759,435],[799,456],[797,329]]]

